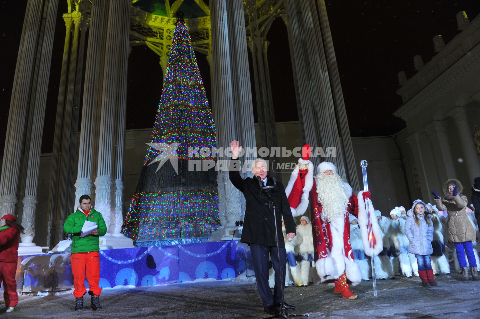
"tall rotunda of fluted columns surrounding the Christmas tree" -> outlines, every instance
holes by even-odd
[[[22,220],[22,252],[39,252],[40,246],[52,247],[63,239],[63,221],[82,194],[92,195],[108,224],[104,247],[131,245],[120,233],[130,200],[126,189],[133,182],[126,175],[133,165],[124,165],[132,152],[125,142],[130,47],[152,49],[165,72],[179,11],[185,13],[193,47],[210,63],[218,147],[228,147],[234,139],[245,147],[257,145],[249,54],[260,145],[279,146],[267,35],[274,19],[283,19],[299,106],[301,138],[295,146],[335,147],[337,156],[331,160],[340,175],[360,188],[324,0],[210,0],[208,5],[203,0],[28,0],[0,177],[0,214]],[[51,79],[54,22],[62,12],[61,75]],[[48,158],[40,154],[40,146],[49,81],[59,82],[59,92]],[[78,134],[74,128],[80,116]],[[40,165],[41,160],[49,166]],[[313,161],[318,164],[320,158]],[[141,161],[135,163],[140,166]],[[217,184],[222,231],[227,232],[242,218],[244,200],[227,172],[219,172]],[[33,243],[34,236],[40,246]]]

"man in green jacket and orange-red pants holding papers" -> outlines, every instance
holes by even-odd
[[[97,229],[86,236],[82,235],[82,227],[85,221],[96,223]],[[75,311],[84,309],[84,295],[86,293],[85,273],[90,286],[90,309],[102,310],[100,306],[100,293],[102,288],[98,286],[100,281],[100,260],[98,251],[99,236],[107,234],[107,225],[101,213],[92,207],[92,199],[88,195],[80,196],[80,204],[75,213],[70,214],[63,224],[65,234],[73,234],[72,243],[72,275],[73,296],[75,297]]]

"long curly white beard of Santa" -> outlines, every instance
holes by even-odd
[[[317,175],[317,200],[322,204],[322,220],[331,222],[347,215],[348,197],[337,174]]]

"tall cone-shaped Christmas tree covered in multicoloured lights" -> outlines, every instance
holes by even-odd
[[[175,147],[166,150],[166,144],[175,145],[176,154]],[[189,170],[188,151],[214,149],[216,131],[190,34],[181,20],[174,29],[148,145],[123,234],[136,242],[210,235],[220,224],[216,172]],[[215,158],[213,152],[200,159]]]

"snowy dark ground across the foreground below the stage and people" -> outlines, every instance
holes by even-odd
[[[373,297],[372,281],[352,288],[355,300],[341,298],[327,284],[288,287],[288,303],[296,312],[310,318],[480,318],[480,282],[460,282],[459,274],[435,276],[437,287],[422,287],[420,279],[396,277],[377,281],[378,296]],[[59,295],[20,297],[12,313],[4,318],[185,318],[244,319],[264,318],[262,302],[254,283],[239,281],[197,281],[192,283],[149,287],[105,289],[100,297],[103,311],[74,312],[72,291]],[[3,299],[1,300],[2,305]]]

